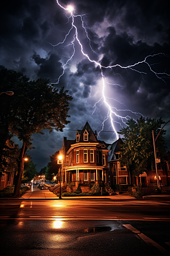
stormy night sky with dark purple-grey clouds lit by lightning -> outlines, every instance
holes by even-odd
[[[169,121],[168,2],[58,0],[63,8],[56,0],[1,3],[0,65],[32,80],[49,79],[73,96],[71,122],[63,133],[44,131],[45,135],[32,136],[36,149],[28,154],[37,171],[62,147],[63,137],[75,139],[76,130],[86,121],[92,130],[103,130],[98,139],[107,143],[116,141],[115,131],[126,127],[129,118],[143,115]],[[74,8],[72,30],[68,6]],[[166,130],[170,143],[169,124]]]

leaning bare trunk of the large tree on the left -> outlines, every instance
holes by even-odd
[[[13,196],[15,197],[20,196],[20,183],[22,181],[22,175],[24,171],[24,158],[25,158],[26,151],[27,151],[26,142],[23,142],[22,150],[20,152],[19,170],[18,170],[18,175],[16,177],[16,183],[14,188]]]

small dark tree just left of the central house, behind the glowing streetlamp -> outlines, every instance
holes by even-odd
[[[60,167],[60,164],[57,164],[59,151],[56,151],[56,153],[52,156],[50,156],[50,162],[47,164],[45,177],[47,180],[52,180],[53,176],[58,174],[58,170]]]

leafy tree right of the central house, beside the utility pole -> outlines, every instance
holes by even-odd
[[[121,163],[129,166],[131,174],[138,176],[154,162],[154,146],[152,130],[158,134],[163,125],[162,118],[151,119],[141,117],[134,121],[130,119],[126,128],[122,128],[119,134],[123,135],[124,144],[121,147]],[[159,148],[160,157],[163,160],[166,154],[166,147],[163,135],[165,130],[160,133],[156,145]]]

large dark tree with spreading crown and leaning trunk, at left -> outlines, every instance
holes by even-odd
[[[14,96],[7,101],[6,95],[1,96],[0,131],[7,139],[16,135],[23,142],[20,151],[19,171],[15,183],[14,196],[19,197],[20,182],[24,170],[24,157],[31,148],[31,135],[42,133],[43,129],[63,131],[69,117],[69,101],[72,97],[67,90],[54,88],[49,80],[31,81],[22,73],[1,69],[1,92],[12,90]],[[1,151],[1,149],[0,149]],[[1,152],[0,152],[1,154]]]

